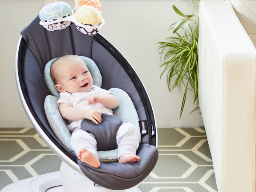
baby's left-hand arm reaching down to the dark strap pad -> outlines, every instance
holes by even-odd
[[[78,108],[73,108],[72,105],[68,103],[59,103],[59,110],[61,116],[67,120],[76,121],[80,119],[90,119],[96,124],[102,121],[101,111],[97,109],[83,110]]]

